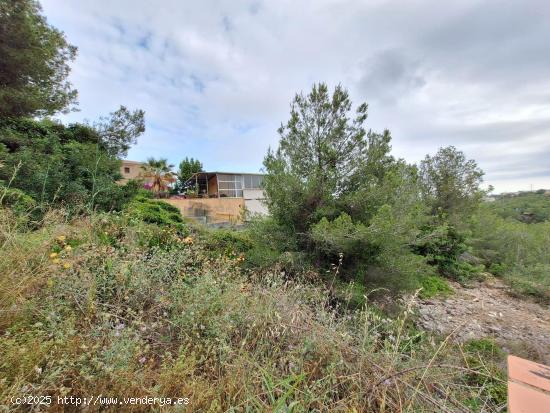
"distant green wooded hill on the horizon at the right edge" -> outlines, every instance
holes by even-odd
[[[503,218],[535,223],[550,221],[550,190],[514,192],[491,197],[491,208]]]

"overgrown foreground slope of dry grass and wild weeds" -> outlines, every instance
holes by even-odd
[[[395,318],[369,305],[346,310],[315,273],[251,270],[215,231],[51,211],[20,232],[7,210],[0,231],[8,410],[23,394],[185,397],[184,411],[211,412],[505,403],[490,342],[458,346],[416,330],[407,303]]]

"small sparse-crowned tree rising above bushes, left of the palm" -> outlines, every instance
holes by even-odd
[[[110,155],[126,156],[137,137],[145,132],[145,112],[141,109],[129,111],[126,106],[120,106],[109,116],[100,118],[94,128]]]

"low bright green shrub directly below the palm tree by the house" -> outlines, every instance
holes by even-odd
[[[164,201],[138,196],[128,204],[127,211],[130,216],[144,222],[174,226],[182,230],[185,228],[180,210]]]

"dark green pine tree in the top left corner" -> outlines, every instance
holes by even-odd
[[[67,80],[76,56],[35,0],[0,1],[0,116],[68,111],[77,91]]]

